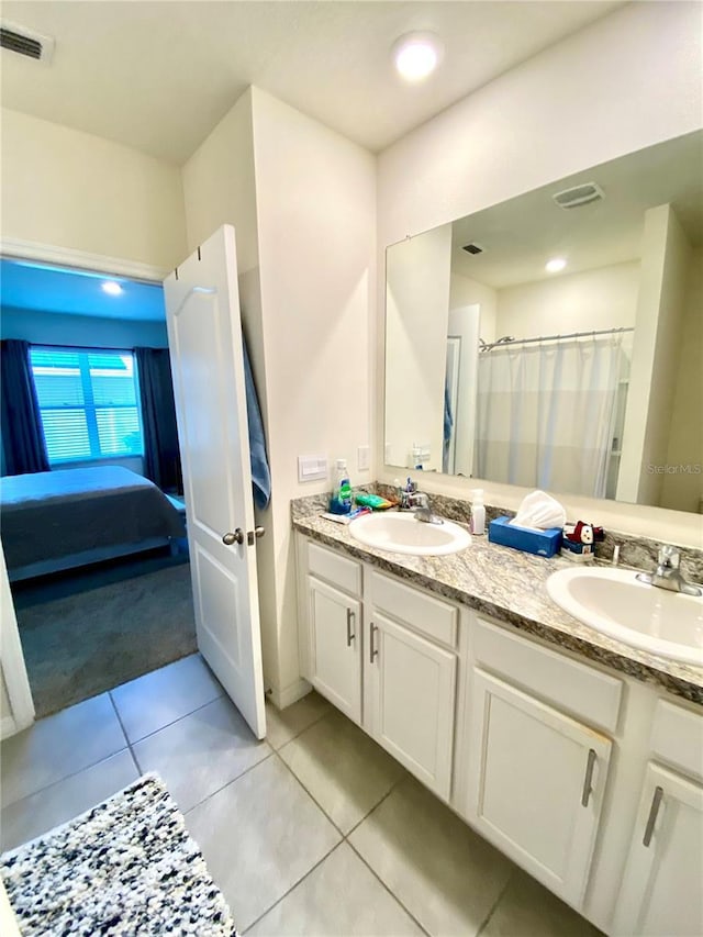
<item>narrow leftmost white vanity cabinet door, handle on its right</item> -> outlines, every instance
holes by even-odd
[[[361,604],[308,577],[310,682],[355,723],[361,722]]]

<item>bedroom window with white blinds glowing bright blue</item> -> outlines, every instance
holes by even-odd
[[[144,453],[131,352],[30,352],[48,460],[72,462]]]

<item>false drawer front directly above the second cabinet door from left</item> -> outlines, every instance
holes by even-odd
[[[371,573],[373,605],[427,637],[457,646],[458,609],[403,582]]]

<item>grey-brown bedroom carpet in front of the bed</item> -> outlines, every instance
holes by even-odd
[[[108,584],[85,579],[25,587],[15,596],[37,718],[197,650],[188,562]]]

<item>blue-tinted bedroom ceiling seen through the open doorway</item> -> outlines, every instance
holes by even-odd
[[[29,260],[0,260],[0,306],[101,319],[164,322],[164,290],[160,283],[142,283],[123,277],[120,295],[108,295],[102,274],[66,270]]]

